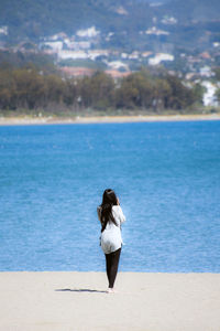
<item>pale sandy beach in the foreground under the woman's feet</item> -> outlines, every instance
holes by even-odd
[[[219,274],[0,273],[1,331],[219,331]]]

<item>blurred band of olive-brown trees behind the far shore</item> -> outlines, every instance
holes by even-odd
[[[114,81],[105,72],[80,78],[34,67],[0,70],[0,109],[186,109],[201,103],[200,85],[146,70]]]

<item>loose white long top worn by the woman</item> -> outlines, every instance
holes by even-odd
[[[99,221],[101,222],[101,206],[97,209]],[[112,206],[112,216],[117,223],[108,222],[105,231],[101,233],[101,248],[105,254],[110,254],[121,248],[121,223],[125,222],[125,216],[120,205]]]

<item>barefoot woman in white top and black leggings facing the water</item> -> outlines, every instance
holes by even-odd
[[[101,248],[106,255],[108,292],[113,293],[113,285],[118,273],[121,253],[121,223],[125,221],[119,199],[111,189],[103,192],[102,203],[97,209],[101,222]]]

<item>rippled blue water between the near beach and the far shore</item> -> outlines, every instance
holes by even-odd
[[[220,121],[0,127],[0,270],[105,270],[106,188],[120,270],[220,271]]]

